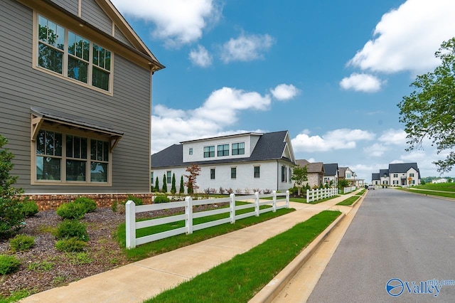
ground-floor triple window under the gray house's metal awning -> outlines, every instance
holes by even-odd
[[[108,183],[109,158],[107,141],[41,129],[36,136],[36,181]]]

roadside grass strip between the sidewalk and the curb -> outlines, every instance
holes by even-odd
[[[145,302],[248,302],[340,215],[322,211]]]

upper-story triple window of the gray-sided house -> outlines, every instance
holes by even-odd
[[[112,91],[112,53],[39,15],[37,57],[40,68]]]

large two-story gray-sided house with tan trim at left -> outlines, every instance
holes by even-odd
[[[0,134],[26,193],[149,193],[151,78],[109,0],[1,0]]]

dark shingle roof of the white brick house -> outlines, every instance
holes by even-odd
[[[287,142],[285,142],[287,134],[287,131],[269,132],[267,134],[262,134],[250,157],[197,161],[194,163],[203,165],[276,159],[283,159],[292,163],[291,159],[283,156],[284,150],[287,148]],[[156,154],[151,155],[152,169],[169,166],[188,166],[191,164],[192,163],[190,162],[183,162],[183,144],[173,144],[171,147],[168,147],[162,151],[157,152]]]

